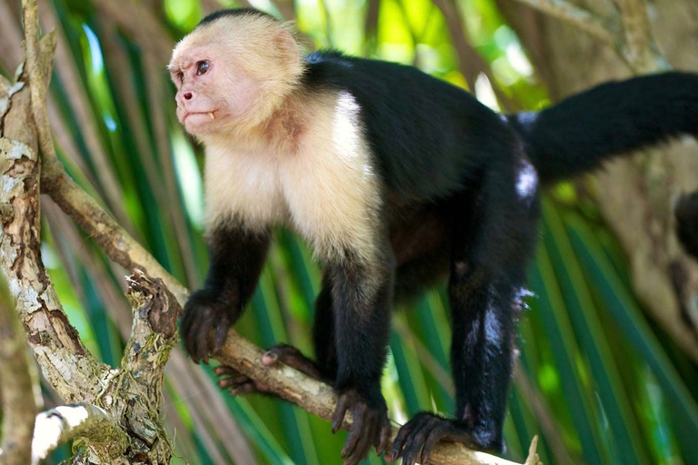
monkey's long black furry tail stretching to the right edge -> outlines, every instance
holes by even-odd
[[[540,113],[513,114],[543,183],[598,167],[683,134],[698,134],[698,74],[666,73],[599,85]]]

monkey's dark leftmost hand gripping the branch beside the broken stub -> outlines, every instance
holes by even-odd
[[[194,292],[184,305],[180,332],[184,348],[195,363],[208,363],[209,354],[223,347],[228,328],[241,313],[232,301],[204,288]]]

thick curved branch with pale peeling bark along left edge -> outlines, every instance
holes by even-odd
[[[39,63],[51,63],[52,40],[49,35],[42,41]],[[47,74],[35,79],[36,87],[45,86]],[[0,95],[0,269],[45,378],[66,401],[92,401],[109,369],[86,351],[41,262],[37,136],[27,81],[23,71]]]

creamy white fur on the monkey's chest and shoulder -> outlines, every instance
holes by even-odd
[[[207,147],[207,222],[234,215],[253,229],[284,223],[324,257],[349,248],[369,259],[380,195],[358,106],[351,95],[337,94],[309,121],[294,150]]]

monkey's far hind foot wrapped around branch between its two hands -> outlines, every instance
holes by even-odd
[[[262,363],[271,367],[282,362],[298,371],[318,381],[325,381],[314,361],[308,359],[292,345],[278,344],[269,349],[262,356]],[[232,367],[221,365],[216,367],[215,375],[218,376],[218,386],[229,389],[234,396],[259,392],[262,394],[272,394],[269,387],[264,383],[254,381]]]

